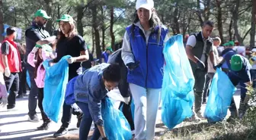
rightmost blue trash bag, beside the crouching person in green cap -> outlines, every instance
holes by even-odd
[[[229,76],[218,68],[213,76],[206,110],[204,111],[204,117],[209,123],[224,120],[235,90],[236,88],[230,81]]]

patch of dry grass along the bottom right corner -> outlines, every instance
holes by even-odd
[[[163,140],[255,140],[256,130],[238,121],[234,123],[200,123],[173,129],[162,135]]]

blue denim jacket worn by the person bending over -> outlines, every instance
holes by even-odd
[[[75,101],[87,103],[94,123],[102,126],[101,100],[107,95],[102,73],[110,64],[99,64],[86,70],[75,80]]]

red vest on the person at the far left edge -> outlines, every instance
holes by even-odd
[[[21,72],[21,57],[17,48],[17,44],[9,39],[5,39],[2,43],[7,42],[9,47],[9,54],[7,55],[8,66],[10,68],[11,73]],[[2,54],[2,52],[1,52]],[[0,67],[5,70],[5,66],[2,62],[2,58],[0,61]]]

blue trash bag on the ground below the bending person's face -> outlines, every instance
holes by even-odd
[[[104,120],[104,130],[108,139],[130,140],[133,138],[130,124],[122,111],[116,109],[110,98],[101,103],[101,113]]]

